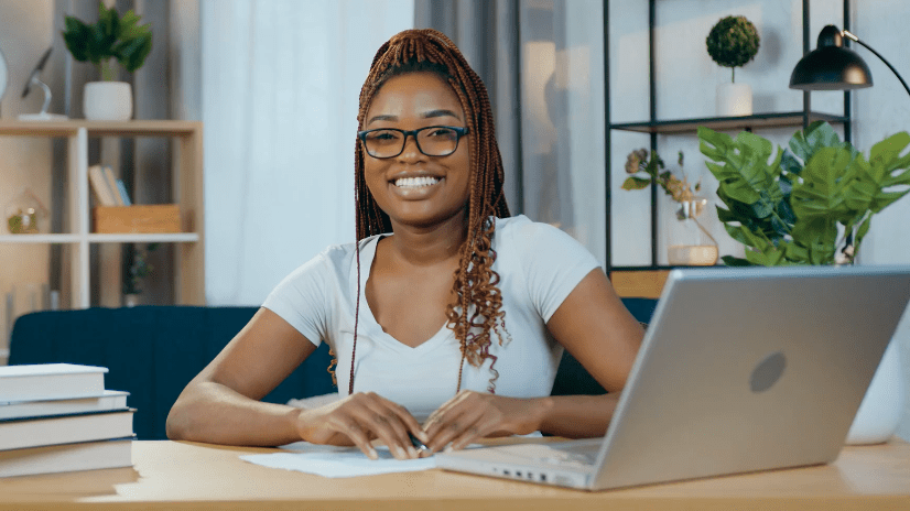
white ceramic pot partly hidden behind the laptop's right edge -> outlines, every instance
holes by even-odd
[[[881,357],[847,433],[846,443],[849,445],[887,442],[898,428],[904,392],[898,341],[895,337]]]

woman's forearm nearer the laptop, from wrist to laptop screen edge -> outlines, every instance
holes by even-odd
[[[539,430],[566,438],[604,436],[619,402],[619,393],[553,395],[537,400]]]

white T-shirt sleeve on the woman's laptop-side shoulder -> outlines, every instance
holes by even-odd
[[[513,232],[528,293],[544,322],[592,270],[594,256],[575,238],[549,225],[524,221]]]

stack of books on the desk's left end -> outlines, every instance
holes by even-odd
[[[132,466],[128,392],[107,368],[0,367],[0,477]]]

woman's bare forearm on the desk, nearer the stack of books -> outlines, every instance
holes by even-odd
[[[301,409],[263,403],[206,381],[188,387],[167,415],[167,437],[212,444],[274,446],[301,439]]]

